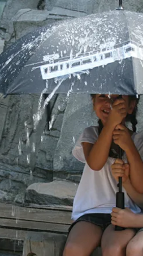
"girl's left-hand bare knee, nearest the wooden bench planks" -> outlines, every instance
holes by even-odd
[[[77,244],[74,243],[67,243],[67,245],[64,247],[63,256],[85,256],[85,253]]]

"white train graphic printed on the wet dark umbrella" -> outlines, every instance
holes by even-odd
[[[93,69],[129,57],[136,57],[143,60],[143,49],[133,43],[128,43],[122,47],[107,49],[102,52],[86,53],[86,55],[83,55],[82,53],[82,56],[77,56],[75,58],[68,57],[68,59],[67,57],[61,58],[59,53],[55,53],[53,55],[44,56],[41,63],[48,63],[33,67],[32,70],[40,68],[42,79],[47,80]],[[40,63],[33,63],[30,65],[36,64]]]

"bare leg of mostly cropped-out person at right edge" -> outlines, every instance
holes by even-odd
[[[138,232],[135,237],[129,241],[126,249],[127,256],[143,256],[143,231]]]

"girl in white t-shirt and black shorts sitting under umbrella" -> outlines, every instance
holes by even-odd
[[[133,187],[138,193],[143,193],[143,133],[135,133],[137,99],[133,96],[117,97],[93,95],[99,127],[86,128],[73,148],[73,155],[84,162],[85,167],[73,201],[74,222],[63,256],[89,256],[100,243],[103,256],[125,256],[125,248],[136,234],[133,228],[119,232],[110,225],[118,191],[111,166],[119,158],[119,146],[123,150],[124,163],[129,163]],[[133,131],[125,127],[127,119],[131,121]],[[124,193],[125,207],[140,213],[140,207],[125,189]]]

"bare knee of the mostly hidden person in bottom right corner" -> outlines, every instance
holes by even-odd
[[[138,245],[137,242],[130,241],[126,248],[126,256],[143,255],[143,244]]]

